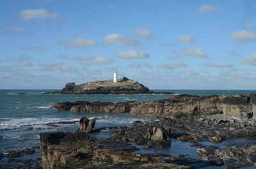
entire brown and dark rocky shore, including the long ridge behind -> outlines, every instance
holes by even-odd
[[[130,127],[95,128],[95,120],[83,117],[74,133],[40,134],[42,159],[20,159],[38,147],[0,154],[0,168],[225,168],[256,164],[256,94],[236,96],[179,95],[150,102],[76,101],[52,105],[60,111],[84,113],[131,113],[158,117],[134,121]],[[76,122],[60,122],[60,124]],[[56,123],[59,124],[59,123]],[[47,124],[54,128],[56,124]],[[78,127],[78,126],[77,126]],[[95,138],[94,134],[108,135]],[[239,147],[228,140],[255,139]],[[173,141],[190,143],[199,158],[147,151],[170,149]],[[216,143],[216,146],[205,145]],[[225,148],[218,143],[225,142]],[[175,147],[173,147],[175,149]],[[171,150],[173,151],[173,150]],[[136,153],[140,152],[140,153]],[[143,153],[141,153],[143,152]]]

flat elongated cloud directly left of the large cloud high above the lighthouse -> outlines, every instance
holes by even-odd
[[[97,41],[91,39],[82,39],[77,38],[74,40],[58,40],[59,45],[63,47],[90,47],[90,46],[97,46]]]

